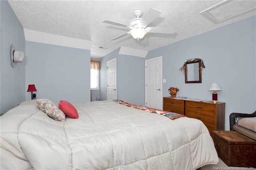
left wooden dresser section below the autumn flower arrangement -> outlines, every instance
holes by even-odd
[[[164,111],[185,115],[185,101],[164,97]]]

